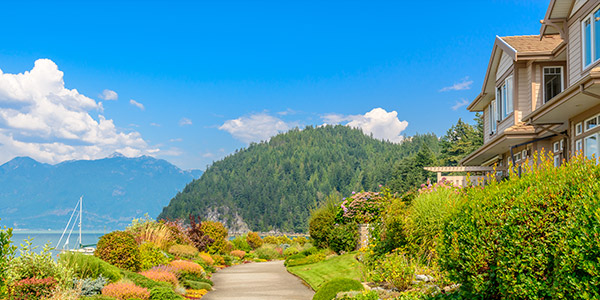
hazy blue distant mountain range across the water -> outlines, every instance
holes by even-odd
[[[156,217],[200,170],[184,171],[150,156],[73,160],[56,165],[17,157],[0,166],[0,224],[62,230],[83,196],[83,229],[122,229]]]

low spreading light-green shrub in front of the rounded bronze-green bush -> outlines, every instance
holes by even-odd
[[[98,278],[103,276],[110,282],[117,282],[121,279],[121,270],[95,256],[82,253],[65,252],[61,253],[59,262],[75,272],[79,278]]]

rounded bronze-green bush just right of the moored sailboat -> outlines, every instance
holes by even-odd
[[[134,272],[140,270],[140,250],[129,232],[113,231],[103,235],[94,255],[121,269]]]

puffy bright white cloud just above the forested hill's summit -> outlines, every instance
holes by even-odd
[[[373,135],[374,138],[400,143],[404,139],[402,131],[408,126],[407,121],[400,121],[396,111],[387,112],[383,108],[374,108],[364,115],[327,114],[322,116],[325,124],[340,124],[360,128],[365,134]]]

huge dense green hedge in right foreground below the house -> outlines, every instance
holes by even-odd
[[[540,160],[466,189],[447,218],[438,252],[467,298],[600,298],[600,166]]]

